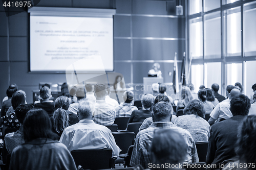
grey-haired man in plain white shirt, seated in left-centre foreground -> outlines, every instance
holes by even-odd
[[[59,141],[65,144],[70,152],[108,148],[112,149],[112,156],[118,157],[120,149],[111,130],[93,122],[92,109],[87,100],[80,100],[77,111],[79,123],[67,127]]]

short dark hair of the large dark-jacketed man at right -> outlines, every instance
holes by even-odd
[[[247,115],[250,107],[251,107],[250,100],[244,94],[236,95],[230,101],[230,111],[233,114],[233,116]]]

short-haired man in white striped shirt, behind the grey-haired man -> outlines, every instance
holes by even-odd
[[[104,84],[96,84],[94,86],[96,102],[95,110],[93,111],[93,120],[95,124],[111,126],[114,124],[116,119],[116,109],[107,104],[105,101],[105,96],[107,93],[108,92],[106,91]]]

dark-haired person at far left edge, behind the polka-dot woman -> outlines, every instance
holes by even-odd
[[[9,107],[12,106],[12,94],[18,90],[16,84],[11,84],[9,88],[6,90],[7,98],[3,99],[3,104],[1,107],[1,117],[5,116]]]

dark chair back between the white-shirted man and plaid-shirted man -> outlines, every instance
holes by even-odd
[[[128,148],[133,145],[134,132],[113,132],[116,144],[122,150],[120,154],[127,153]]]

